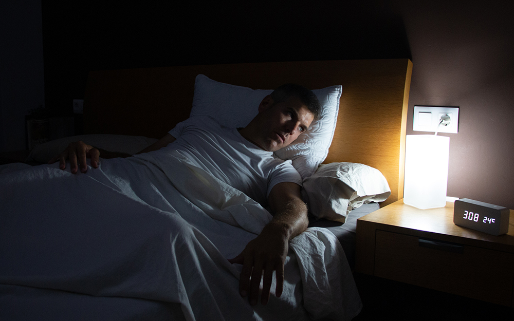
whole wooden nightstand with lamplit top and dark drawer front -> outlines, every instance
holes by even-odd
[[[399,200],[357,220],[357,272],[514,307],[514,211],[509,233],[453,224],[453,203],[419,210]]]

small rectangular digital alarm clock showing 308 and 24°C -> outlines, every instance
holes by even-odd
[[[455,201],[453,223],[492,235],[509,231],[510,211],[503,206],[463,198]]]

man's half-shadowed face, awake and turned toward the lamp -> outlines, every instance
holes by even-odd
[[[295,141],[314,120],[313,113],[296,97],[279,103],[265,98],[259,106],[259,113],[261,126],[256,143],[270,152]]]

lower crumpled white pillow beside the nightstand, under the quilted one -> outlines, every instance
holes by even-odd
[[[358,163],[321,164],[303,181],[303,197],[316,218],[343,222],[353,209],[391,195],[378,169]]]

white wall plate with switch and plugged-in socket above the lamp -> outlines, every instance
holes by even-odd
[[[441,120],[441,116],[448,115],[450,123],[437,125]],[[432,131],[435,133],[458,133],[458,107],[443,107],[443,106],[414,106],[414,131]]]

